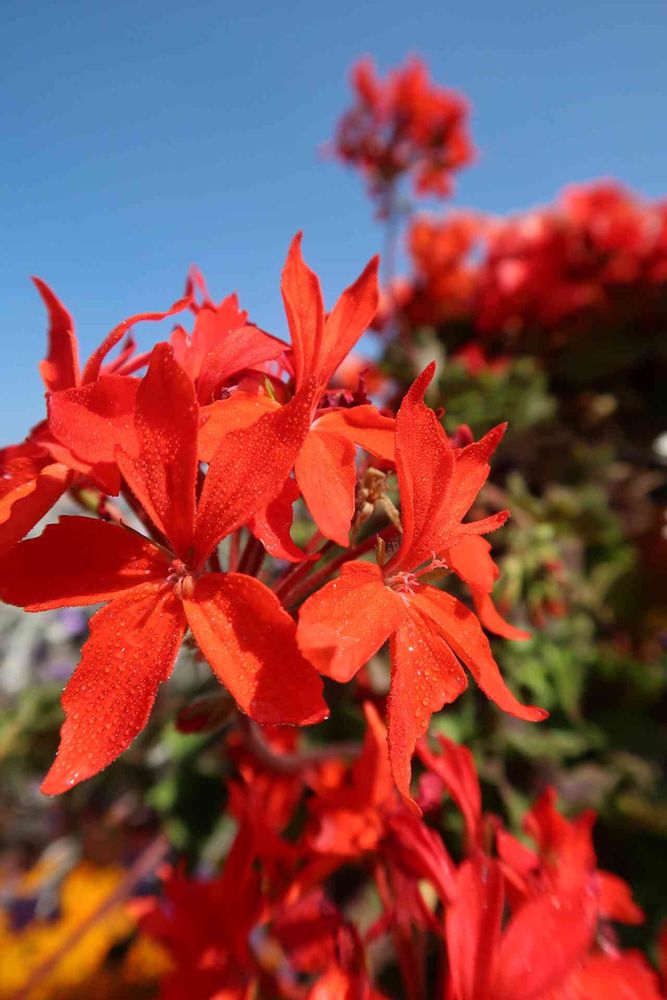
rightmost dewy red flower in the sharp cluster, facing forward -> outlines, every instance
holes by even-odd
[[[317,669],[350,680],[391,640],[389,747],[394,779],[410,794],[410,761],[433,712],[466,687],[463,662],[504,711],[537,721],[542,709],[520,704],[506,687],[479,621],[460,601],[420,582],[438,557],[465,537],[499,527],[506,513],[463,523],[489,473],[488,458],[502,428],[454,451],[423,402],[429,366],[415,381],[396,420],[396,464],[403,535],[384,566],[347,563],[337,580],[301,608],[299,645]],[[429,565],[430,564],[430,565]]]

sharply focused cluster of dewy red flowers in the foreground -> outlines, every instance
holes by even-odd
[[[375,315],[377,260],[325,314],[297,237],[282,278],[291,346],[234,297],[216,305],[194,272],[183,299],[120,324],[82,372],[69,314],[38,288],[47,417],[2,453],[0,597],[31,612],[104,604],[63,694],[44,792],[127,749],[186,636],[242,713],[297,726],[328,714],[320,675],[347,682],[390,640],[390,759],[406,800],[415,745],[466,687],[464,667],[504,711],[545,716],[509,691],[482,628],[525,638],[491,597],[483,536],[508,512],[466,520],[504,426],[450,441],[424,403],[434,365],[396,415],[330,387]],[[177,326],[148,353],[130,338],[109,360],[131,325],[188,308],[191,332]],[[20,540],[65,491],[85,514]],[[297,500],[314,522],[305,547],[291,535]],[[476,613],[436,585],[454,576]]]

